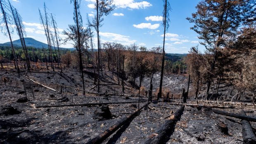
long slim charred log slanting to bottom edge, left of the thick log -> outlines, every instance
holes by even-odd
[[[142,106],[140,109],[133,111],[133,113],[131,113],[130,115],[122,118],[117,123],[115,123],[113,126],[109,127],[107,130],[102,132],[100,135],[97,135],[95,138],[90,139],[89,142],[87,142],[86,144],[101,144],[105,139],[107,139],[107,137],[112,135],[116,130],[118,130],[122,125],[124,125],[130,118],[135,116],[135,114],[138,111],[140,111],[141,109],[143,109],[145,106],[147,106],[147,104]]]

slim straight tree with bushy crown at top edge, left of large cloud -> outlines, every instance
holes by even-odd
[[[103,16],[107,16],[111,11],[115,9],[115,5],[112,5],[113,0],[96,0],[95,10],[97,15],[92,20],[92,26],[97,31],[97,40],[98,40],[98,92],[100,92],[100,35],[99,27],[102,26],[102,21],[104,20]]]

